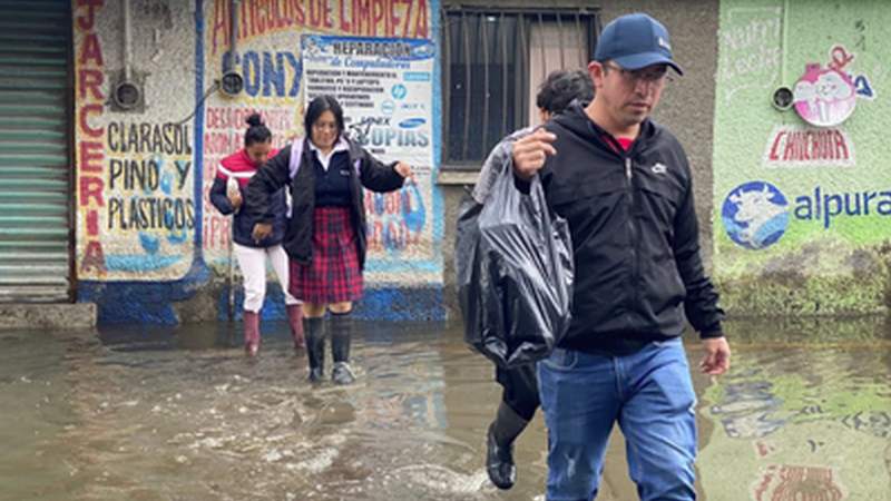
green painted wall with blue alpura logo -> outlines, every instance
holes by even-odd
[[[724,307],[756,315],[885,312],[891,2],[725,0],[719,27],[713,232]],[[838,46],[844,51],[833,51]],[[806,65],[825,70],[833,60],[841,72],[824,77],[836,87],[816,91],[838,100],[845,87],[838,84],[846,84],[840,75],[860,80],[850,118],[813,127],[794,108],[773,107],[774,89],[794,89]],[[833,106],[841,105],[823,109]]]

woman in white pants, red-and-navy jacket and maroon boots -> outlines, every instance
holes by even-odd
[[[251,115],[247,124],[249,127],[244,134],[244,148],[224,158],[216,169],[210,203],[224,215],[235,214],[232,238],[238,268],[244,276],[244,345],[247,354],[254,356],[260,350],[260,311],[266,296],[267,257],[285,294],[285,313],[294,348],[301,348],[305,343],[301,302],[287,292],[287,254],[282,248],[286,224],[285,193],[280,189],[270,198],[270,210],[274,214],[273,230],[262,239],[252,236],[257,218],[244,208],[243,190],[270,154],[275,153],[272,149],[272,131],[260,115]]]

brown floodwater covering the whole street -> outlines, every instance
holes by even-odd
[[[487,480],[500,387],[460,325],[362,324],[356,384],[315,389],[284,324],[264,324],[257,360],[237,328],[0,334],[0,499],[544,499],[540,413],[518,484]],[[694,375],[701,499],[891,500],[884,320],[727,331],[732,371]],[[624,461],[616,436],[598,500],[637,499]]]

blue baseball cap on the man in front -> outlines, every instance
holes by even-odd
[[[672,59],[668,30],[645,13],[633,13],[614,19],[604,28],[594,51],[596,61],[608,59],[627,70],[650,65],[668,65],[677,75],[684,75]]]

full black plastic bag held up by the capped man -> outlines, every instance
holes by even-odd
[[[505,369],[550,354],[569,327],[572,246],[536,176],[523,194],[506,168],[484,204],[462,203],[456,236],[464,341]]]

